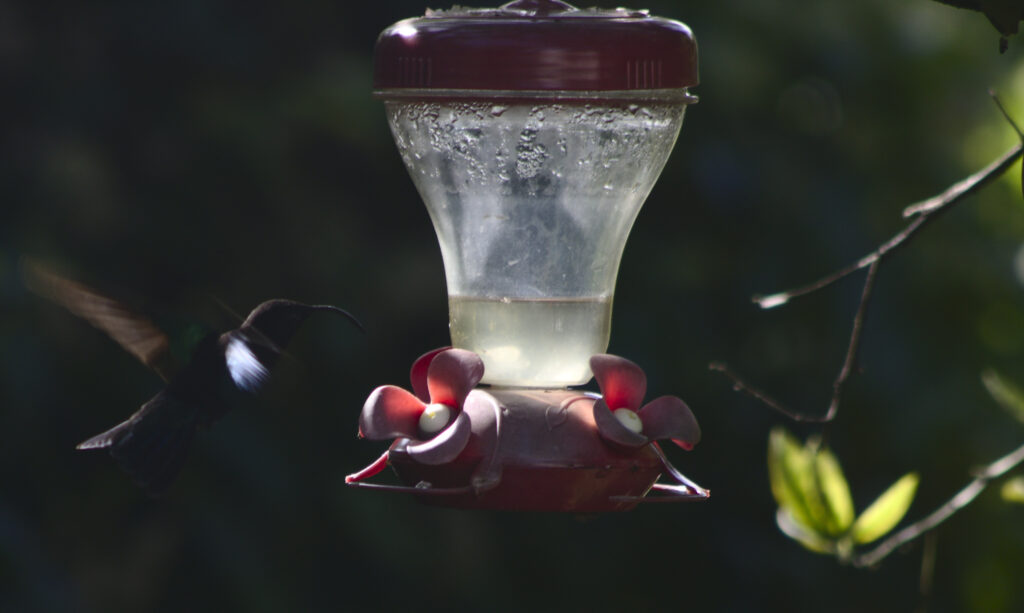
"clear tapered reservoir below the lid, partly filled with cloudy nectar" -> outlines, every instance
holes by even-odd
[[[626,237],[679,134],[684,105],[387,102],[430,212],[452,343],[486,383],[590,380],[608,347]]]

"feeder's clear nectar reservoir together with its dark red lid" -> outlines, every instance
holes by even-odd
[[[586,383],[626,238],[695,100],[689,31],[520,0],[399,21],[376,56],[440,244],[453,345],[480,355],[483,383]]]

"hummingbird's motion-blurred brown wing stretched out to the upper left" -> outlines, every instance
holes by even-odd
[[[77,281],[26,260],[22,264],[26,286],[106,333],[119,345],[153,368],[164,381],[175,371],[167,335],[145,317]]]

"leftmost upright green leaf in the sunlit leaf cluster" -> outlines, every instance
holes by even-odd
[[[811,451],[784,428],[768,439],[768,478],[779,509],[806,530],[826,533],[825,512],[815,480]]]

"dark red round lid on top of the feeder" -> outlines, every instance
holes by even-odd
[[[685,24],[644,10],[578,9],[559,0],[428,10],[382,32],[374,56],[374,87],[383,97],[410,90],[602,97],[698,83],[696,41]]]

